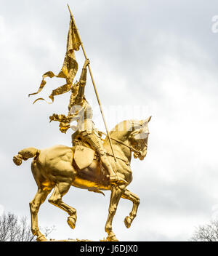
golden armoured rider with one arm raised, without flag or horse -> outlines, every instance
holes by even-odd
[[[88,101],[84,97],[84,89],[86,86],[86,73],[87,66],[89,65],[89,60],[85,60],[84,66],[81,71],[81,76],[77,84],[73,85],[70,95],[70,103],[68,105],[68,116],[56,115],[50,116],[50,120],[60,121],[60,131],[66,132],[68,128],[75,130],[75,127],[69,123],[72,121],[77,121],[77,127],[81,139],[89,143],[92,149],[97,152],[100,156],[100,161],[102,166],[109,173],[109,180],[111,184],[122,185],[126,184],[126,180],[116,175],[113,168],[108,161],[108,156],[106,155],[105,148],[102,145],[101,138],[97,136],[94,132],[94,124],[92,121],[92,107],[89,105]]]

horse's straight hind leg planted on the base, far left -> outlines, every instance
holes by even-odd
[[[40,205],[45,201],[47,195],[51,190],[43,190],[42,188],[38,188],[36,196],[30,202],[31,209],[31,231],[34,236],[37,236],[37,241],[47,241],[46,237],[39,231],[38,226],[38,212]]]

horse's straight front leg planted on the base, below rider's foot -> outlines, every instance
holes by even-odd
[[[116,214],[118,202],[120,201],[122,193],[124,192],[124,188],[122,187],[123,186],[118,187],[113,185],[111,188],[108,220],[105,225],[105,232],[108,233],[108,238],[107,238],[108,241],[118,241],[118,239],[116,239],[116,236],[112,231],[112,222],[113,222],[113,217]]]

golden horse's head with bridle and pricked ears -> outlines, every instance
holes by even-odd
[[[129,135],[129,145],[134,149],[134,158],[143,160],[147,154],[148,148],[148,122],[150,121],[151,116],[148,119],[133,121],[133,130]]]

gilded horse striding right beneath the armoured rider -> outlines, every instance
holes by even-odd
[[[105,137],[104,147],[108,152],[110,164],[117,175],[126,180],[126,185],[111,185],[99,159],[93,159],[88,167],[79,169],[74,161],[75,147],[55,145],[41,150],[25,148],[14,156],[13,161],[17,165],[22,164],[22,160],[33,158],[31,170],[36,180],[38,191],[30,202],[31,231],[37,237],[37,241],[47,241],[44,234],[39,231],[38,212],[40,205],[47,199],[53,188],[54,191],[48,200],[49,203],[68,212],[68,225],[70,225],[70,228],[75,228],[76,209],[62,201],[62,196],[68,193],[71,185],[98,193],[102,193],[105,190],[111,191],[105,232],[108,233],[108,241],[118,241],[112,230],[112,222],[119,200],[121,198],[128,199],[133,203],[132,211],[124,219],[126,228],[131,226],[140,204],[139,197],[127,190],[126,186],[132,182],[132,170],[130,168],[132,153],[134,153],[134,158],[139,158],[140,160],[143,160],[147,154],[148,122],[150,118],[151,116],[140,121],[122,121],[110,131],[116,159],[114,159],[110,151],[108,137]]]

